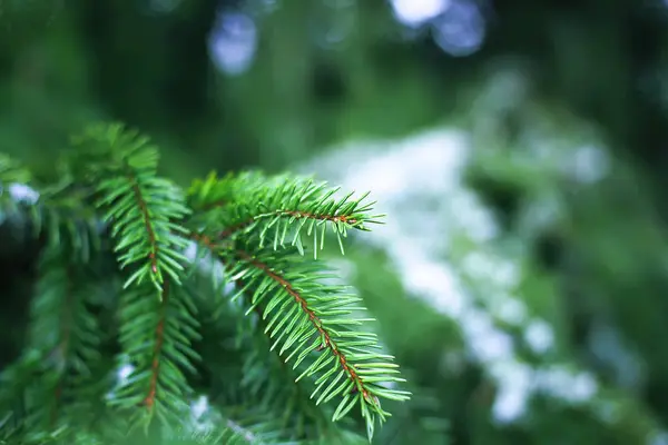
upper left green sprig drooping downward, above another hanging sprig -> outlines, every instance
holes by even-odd
[[[166,276],[180,285],[186,260],[180,251],[187,231],[174,222],[189,214],[180,190],[156,176],[158,154],[149,140],[120,125],[92,127],[78,140],[92,147],[75,171],[95,178],[97,206],[111,224],[115,250],[122,253],[121,269],[136,266],[125,287],[148,277],[161,298]]]

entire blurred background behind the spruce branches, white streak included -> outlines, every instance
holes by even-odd
[[[379,444],[662,445],[667,56],[661,0],[0,0],[0,150],[116,119],[184,186],[371,190],[330,259],[416,394]]]

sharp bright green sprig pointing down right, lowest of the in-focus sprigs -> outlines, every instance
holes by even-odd
[[[360,405],[366,421],[367,434],[373,435],[374,418],[383,422],[389,413],[381,408],[379,397],[406,400],[409,393],[390,389],[381,383],[403,382],[396,377],[399,370],[392,364],[392,356],[380,354],[374,334],[350,330],[370,319],[355,318],[354,312],[364,310],[354,304],[358,297],[348,295],[341,286],[325,285],[327,275],[322,267],[304,263],[287,254],[261,249],[250,255],[245,250],[220,251],[236,260],[230,268],[230,279],[244,278],[245,288],[255,286],[252,307],[265,305],[263,318],[268,319],[265,332],[275,337],[271,349],[286,353],[286,362],[296,357],[296,368],[308,356],[321,354],[296,378],[317,376],[317,387],[312,397],[320,393],[316,405],[338,396],[341,402],[333,421],[344,417],[354,405]],[[298,257],[297,257],[298,258]],[[315,337],[315,339],[314,339]],[[325,386],[326,385],[326,386]]]

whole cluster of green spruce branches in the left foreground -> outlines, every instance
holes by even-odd
[[[193,393],[185,372],[195,373],[200,359],[193,346],[200,326],[184,267],[187,238],[208,244],[216,264],[228,271],[225,278],[238,284],[239,293],[229,300],[235,315],[257,315],[239,317],[232,334],[255,354],[242,354],[238,365],[244,366],[236,372],[246,376],[235,376],[242,403],[220,407],[226,416],[212,443],[281,443],[285,437],[354,443],[351,432],[323,421],[332,414],[325,404],[335,397],[333,421],[358,405],[371,439],[375,418],[389,416],[379,398],[409,398],[406,392],[381,385],[403,379],[391,356],[372,350],[380,347],[375,336],[351,329],[367,320],[353,315],[363,310],[354,305],[360,298],[325,285],[322,267],[296,255],[304,254],[303,237],[312,236],[316,258],[327,226],[343,253],[348,230],[380,222],[380,216],[370,215],[373,204],[364,201],[366,195],[335,199],[337,189],[326,184],[247,172],[195,181],[186,199],[157,176],[158,155],[148,139],[120,125],[92,127],[75,146],[67,170],[59,170],[61,177],[48,187],[33,184],[28,171],[0,155],[0,217],[18,215],[21,225],[48,241],[32,306],[31,349],[0,375],[0,413],[11,413],[17,425],[9,428],[12,441],[124,443],[119,433],[130,428],[119,425],[126,425],[126,417],[131,426],[155,425],[163,433],[184,425]],[[265,248],[272,240],[274,248]],[[125,281],[118,332],[116,320],[102,329],[107,316],[89,312],[101,286],[92,271],[106,267],[97,261],[102,256],[115,260],[114,283],[118,277]],[[94,289],[94,284],[99,286]],[[159,298],[153,297],[156,293]],[[242,294],[246,298],[239,299]],[[116,296],[109,297],[115,301]],[[238,336],[240,325],[250,320],[259,323],[249,323],[247,336]],[[118,335],[121,357],[129,357],[134,369],[111,393],[102,330]],[[269,368],[267,354],[276,358]],[[279,376],[295,384],[283,385]],[[315,386],[310,396],[301,393],[308,384]],[[9,429],[0,425],[0,441]]]

